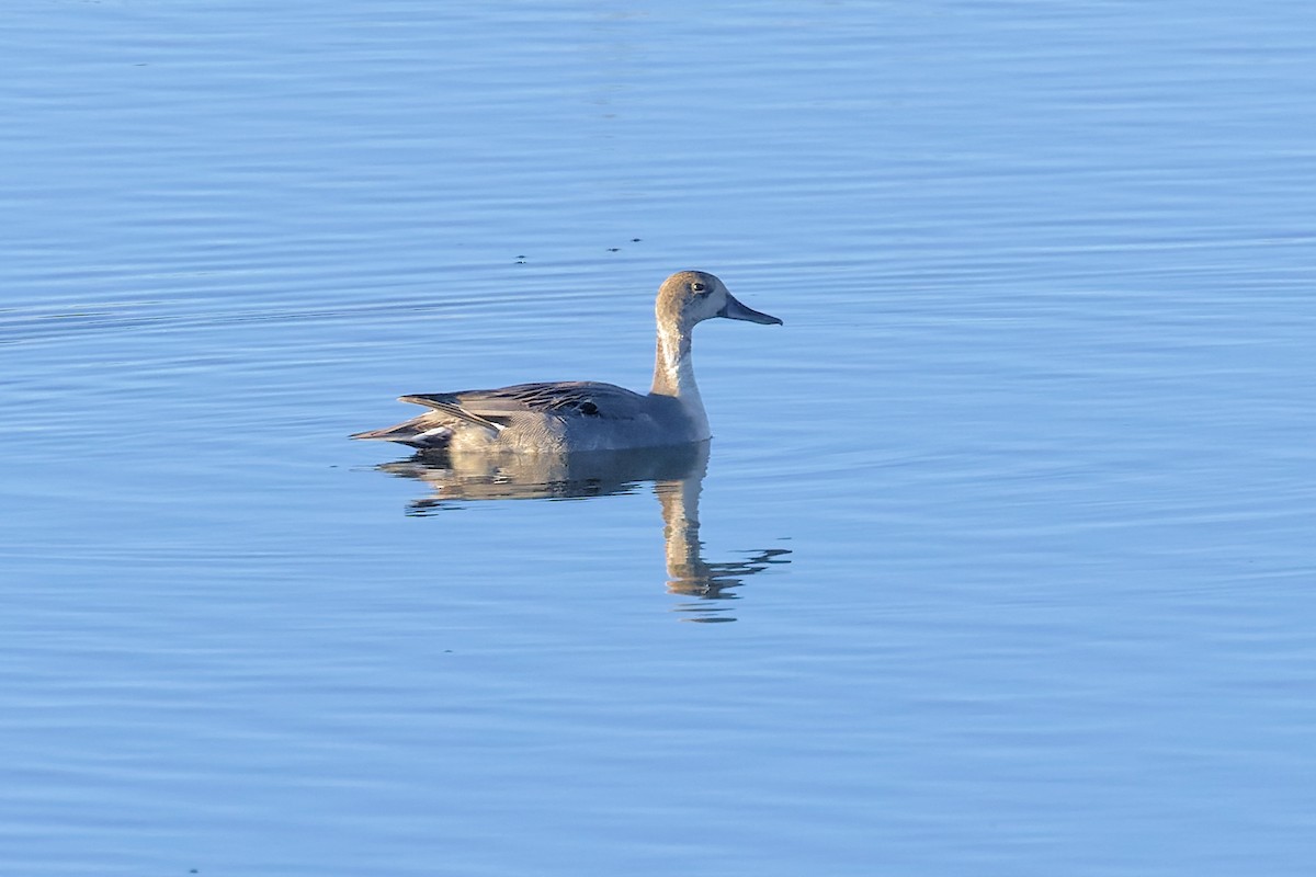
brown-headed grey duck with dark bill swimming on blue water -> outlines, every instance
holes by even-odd
[[[450,454],[625,451],[708,440],[708,414],[691,360],[695,326],[715,317],[776,326],[782,321],[741,304],[705,271],[667,277],[658,288],[654,314],[658,342],[647,393],[601,381],[413,393],[399,401],[429,410],[351,438]]]

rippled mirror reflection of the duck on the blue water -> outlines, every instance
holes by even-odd
[[[428,515],[479,500],[574,500],[636,493],[653,483],[662,505],[667,590],[696,598],[678,611],[688,621],[734,621],[725,606],[734,589],[774,564],[790,563],[790,551],[765,548],[744,560],[708,561],[699,539],[699,494],[708,471],[708,442],[644,451],[571,454],[461,454],[420,451],[379,469],[425,481],[434,494],[413,500],[408,514]]]

